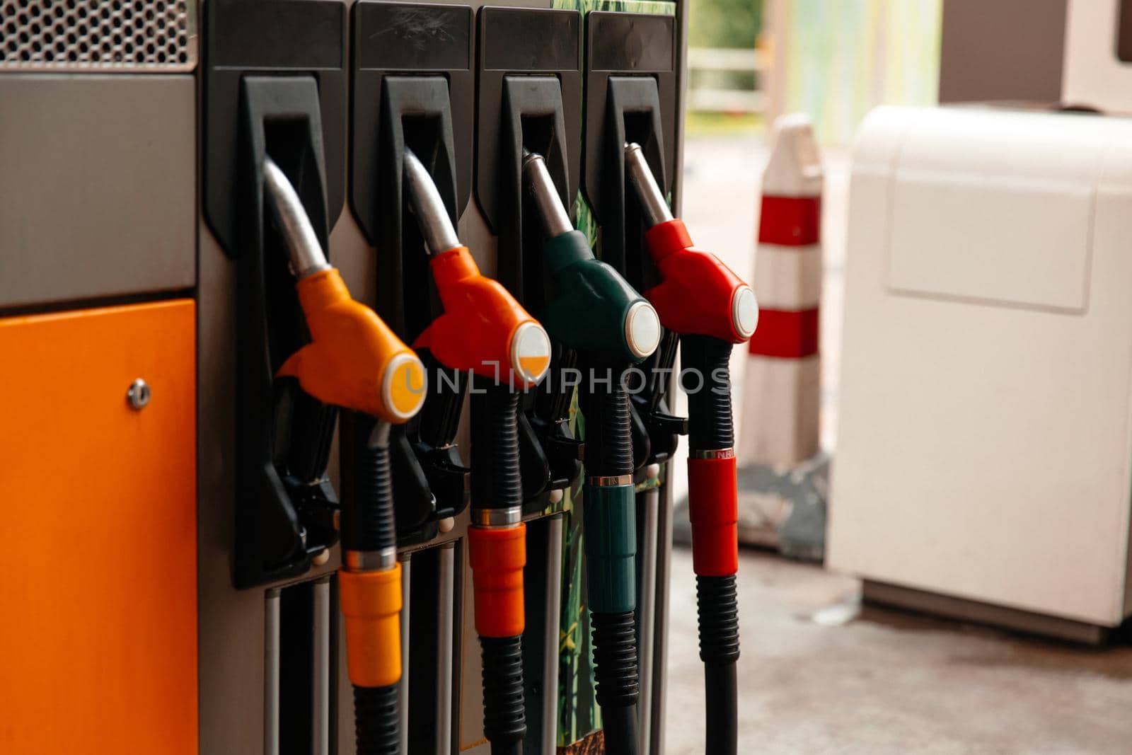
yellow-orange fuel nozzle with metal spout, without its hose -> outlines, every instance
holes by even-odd
[[[354,301],[342,275],[326,261],[294,187],[268,157],[264,187],[299,278],[299,302],[311,342],[278,370],[298,378],[325,404],[366,412],[400,424],[424,403],[424,366],[374,310]]]

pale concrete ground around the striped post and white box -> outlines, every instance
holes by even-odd
[[[765,160],[762,135],[686,143],[684,217],[696,244],[740,275],[753,266]],[[848,154],[827,149],[824,162],[822,437],[834,449]],[[741,421],[741,404],[736,413]],[[677,496],[684,484],[676,480]],[[744,552],[739,568],[744,755],[1132,753],[1130,647],[1083,649],[861,609],[857,580],[770,554]],[[672,575],[666,752],[701,755],[703,670],[688,551],[674,552]]]

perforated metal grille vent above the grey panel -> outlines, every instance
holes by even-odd
[[[0,70],[186,70],[195,0],[0,0]]]

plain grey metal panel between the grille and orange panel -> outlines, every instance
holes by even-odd
[[[0,76],[0,307],[196,282],[191,76]]]

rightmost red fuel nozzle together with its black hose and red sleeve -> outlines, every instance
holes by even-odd
[[[735,666],[739,659],[738,504],[731,348],[758,323],[754,291],[714,255],[695,249],[674,218],[641,146],[625,144],[627,180],[640,201],[645,241],[660,283],[645,295],[664,328],[680,337],[683,371],[697,374],[688,394],[688,511],[696,572],[700,658],[704,662],[706,750],[737,752]]]

